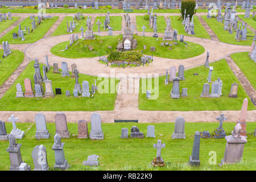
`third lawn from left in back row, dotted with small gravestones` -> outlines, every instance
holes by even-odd
[[[72,22],[73,17],[72,16],[65,16],[63,21],[60,23],[59,27],[56,28],[56,30],[52,33],[51,36],[57,36],[57,35],[64,35],[64,34],[73,34],[73,33],[79,33],[81,32],[80,28],[83,26],[83,28],[86,30],[86,19],[88,16],[84,16],[85,19],[80,19],[80,20],[74,20],[76,22],[76,28],[73,30],[73,32],[67,32],[67,21],[68,21],[68,26],[69,23]],[[85,32],[84,30],[84,32]]]

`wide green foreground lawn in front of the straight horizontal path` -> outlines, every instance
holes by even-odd
[[[216,116],[217,117],[217,116]],[[81,118],[82,119],[82,118]],[[172,119],[174,120],[174,118]],[[243,150],[242,161],[236,164],[229,164],[220,167],[218,163],[224,157],[226,140],[222,139],[200,139],[200,166],[191,167],[187,165],[189,156],[192,152],[193,137],[196,131],[208,130],[211,134],[214,129],[218,127],[218,122],[186,122],[185,123],[185,135],[186,139],[172,139],[171,135],[174,132],[174,122],[166,123],[102,123],[102,130],[104,132],[104,140],[90,140],[77,139],[77,123],[68,123],[68,130],[71,133],[71,138],[61,139],[64,142],[64,154],[65,159],[68,160],[68,164],[71,165],[70,171],[133,171],[133,170],[163,170],[163,171],[255,171],[256,170],[256,137],[253,132],[256,127],[256,122],[246,122],[247,131],[247,143]],[[139,130],[143,132],[144,139],[131,139],[130,129],[132,126],[138,126]],[[146,138],[147,126],[155,126],[156,138]],[[36,140],[35,136],[35,123],[16,123],[16,126],[25,131],[24,138],[16,140],[17,143],[22,144],[20,152],[22,159],[26,162],[31,169],[34,169],[33,159],[31,157],[32,150],[36,145],[43,144],[46,147],[47,162],[50,170],[53,170],[55,164],[55,154],[52,150],[54,143],[53,137],[55,135],[55,123],[47,123],[47,129],[49,130],[50,138]],[[223,128],[227,135],[231,134],[236,122],[224,122]],[[30,127],[30,129],[28,129]],[[121,129],[127,128],[129,130],[129,138],[121,139]],[[6,123],[7,133],[10,133],[12,124]],[[88,133],[90,132],[90,123],[88,123]],[[75,135],[75,137],[72,137]],[[89,135],[89,134],[88,134]],[[163,135],[163,136],[160,136]],[[156,157],[156,148],[153,148],[153,144],[157,143],[158,139],[162,139],[162,143],[166,144],[165,148],[162,148],[161,156],[166,163],[165,167],[151,166],[151,160]],[[8,141],[0,141],[0,170],[9,171],[10,158],[9,153],[6,152],[6,148],[9,147]],[[216,152],[216,164],[209,164],[209,159],[212,155],[209,155],[210,151]],[[96,154],[100,156],[98,158],[99,166],[93,168],[90,166],[83,166],[82,162],[87,160],[88,155]],[[56,169],[57,170],[57,169]]]

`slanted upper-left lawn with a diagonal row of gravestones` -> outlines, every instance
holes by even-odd
[[[33,32],[31,32],[32,20],[30,19],[30,17],[27,17],[20,23],[22,30],[24,30],[24,26],[30,27],[30,34],[27,34],[27,31],[24,32],[24,38],[25,38],[24,41],[22,41],[21,38],[13,39],[13,33],[16,32],[18,34],[19,25],[17,25],[11,31],[9,31],[7,34],[2,36],[2,38],[0,38],[0,42],[8,40],[9,44],[34,43],[37,40],[43,38],[43,36],[47,33],[49,28],[51,28],[53,26],[53,24],[56,22],[57,19],[59,19],[59,16],[53,16],[51,19],[44,19],[40,23],[40,25],[37,26]],[[35,22],[37,23],[37,21],[38,21],[38,17],[35,17]]]

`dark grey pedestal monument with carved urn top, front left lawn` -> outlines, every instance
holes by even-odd
[[[61,143],[60,135],[55,134],[54,144],[52,146],[52,150],[54,150],[54,154],[55,154],[54,168],[59,168],[62,170],[69,168],[68,161],[65,159],[65,155],[64,155],[64,150],[63,150],[64,144],[65,144],[64,142]]]

